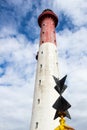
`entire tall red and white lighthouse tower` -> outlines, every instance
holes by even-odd
[[[58,97],[53,79],[53,75],[59,77],[55,32],[57,23],[58,17],[49,9],[44,10],[38,18],[41,32],[36,56],[37,71],[30,130],[54,130],[58,125],[58,120],[53,119],[55,110],[52,108]]]

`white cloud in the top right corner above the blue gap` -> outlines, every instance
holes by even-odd
[[[53,5],[56,12],[64,12],[75,25],[82,26],[87,24],[86,0],[55,0]]]

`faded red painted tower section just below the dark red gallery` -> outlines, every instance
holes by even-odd
[[[44,18],[41,24],[40,45],[45,42],[56,45],[55,21],[51,17]]]

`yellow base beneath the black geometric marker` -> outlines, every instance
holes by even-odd
[[[55,128],[54,130],[74,130],[73,128],[71,128],[65,124],[65,119],[63,116],[61,116],[61,119],[59,120],[59,122],[60,122],[60,125],[57,128]]]

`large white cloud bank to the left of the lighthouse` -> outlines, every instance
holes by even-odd
[[[38,45],[22,35],[8,35],[0,45],[0,64],[8,63],[0,69],[0,129],[29,129]]]

